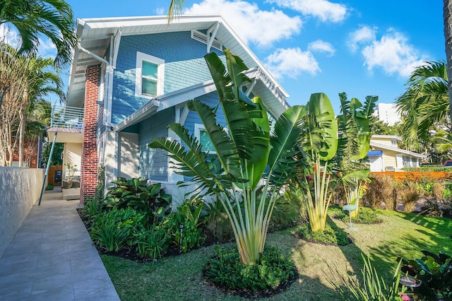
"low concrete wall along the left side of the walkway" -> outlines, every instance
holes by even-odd
[[[0,257],[40,199],[44,170],[0,167]]]

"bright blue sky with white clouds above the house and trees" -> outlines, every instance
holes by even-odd
[[[167,0],[69,0],[78,18],[166,14]],[[303,105],[311,93],[393,102],[422,60],[444,60],[443,1],[187,1],[186,13],[222,13]],[[45,45],[45,43],[43,43]],[[67,82],[67,80],[66,80]]]

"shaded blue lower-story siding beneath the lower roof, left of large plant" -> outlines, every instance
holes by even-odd
[[[153,181],[167,181],[167,155],[165,151],[149,148],[153,138],[167,137],[167,126],[174,122],[174,107],[158,112],[139,125],[139,175]],[[138,154],[137,154],[138,155]]]

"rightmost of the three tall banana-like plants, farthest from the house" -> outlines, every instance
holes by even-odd
[[[357,202],[350,216],[357,216],[359,198],[364,193],[364,183],[369,182],[369,167],[362,163],[370,148],[369,120],[374,112],[377,96],[367,96],[364,105],[357,99],[347,100],[346,93],[339,93],[340,115],[339,144],[336,164],[342,177],[340,182],[345,190],[347,203]]]

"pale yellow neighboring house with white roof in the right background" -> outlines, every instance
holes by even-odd
[[[371,172],[396,171],[402,167],[419,167],[427,155],[398,148],[398,136],[372,135],[367,153]]]

